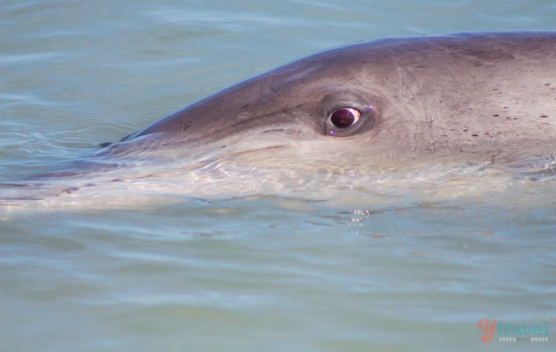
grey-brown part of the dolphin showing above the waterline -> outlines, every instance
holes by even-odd
[[[386,158],[553,155],[556,32],[384,39],[324,51],[206,97],[98,155],[171,149],[182,158],[232,135],[273,141],[254,149],[313,140]]]

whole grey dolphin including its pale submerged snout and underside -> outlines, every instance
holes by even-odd
[[[81,204],[101,193],[125,200],[127,186],[118,185],[131,183],[138,183],[137,196],[289,192],[316,199],[329,190],[372,194],[394,181],[389,190],[423,180],[442,184],[448,196],[451,181],[480,180],[464,191],[479,195],[513,187],[499,178],[461,183],[461,175],[550,181],[556,31],[390,38],[323,51],[216,92],[57,170],[0,183],[8,193],[0,204],[77,190]]]

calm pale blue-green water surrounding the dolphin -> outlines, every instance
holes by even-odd
[[[553,1],[3,1],[0,176],[56,169],[328,47],[555,18]],[[246,165],[236,194],[219,194],[225,178],[188,188],[197,171],[83,187],[93,174],[4,203],[0,351],[554,350],[550,177],[430,165],[282,192]],[[483,318],[546,322],[549,342],[481,342]]]

